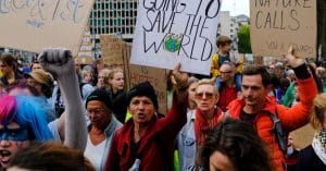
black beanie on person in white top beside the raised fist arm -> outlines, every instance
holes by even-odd
[[[110,98],[110,94],[105,89],[98,88],[98,89],[93,90],[92,93],[90,93],[90,95],[87,97],[86,102],[85,102],[86,108],[87,108],[88,101],[91,101],[91,100],[102,101],[109,109],[112,109],[112,101]]]

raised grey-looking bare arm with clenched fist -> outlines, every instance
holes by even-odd
[[[87,143],[85,108],[71,51],[46,49],[40,53],[38,60],[45,70],[58,80],[65,103],[64,145],[84,150]],[[61,129],[59,127],[59,130]]]

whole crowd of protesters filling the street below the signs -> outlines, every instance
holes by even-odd
[[[23,70],[2,53],[1,170],[325,170],[325,68],[292,47],[286,63],[258,65],[237,61],[228,37],[216,45],[210,76],[171,71],[167,113],[150,82],[126,89],[121,68],[50,48]],[[309,122],[300,149],[290,133]]]

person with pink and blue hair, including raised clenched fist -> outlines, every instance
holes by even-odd
[[[13,155],[33,142],[54,139],[82,151],[86,147],[86,114],[71,51],[46,49],[38,60],[58,80],[66,102],[64,114],[48,124],[37,97],[18,94],[0,98],[0,170],[5,170]]]

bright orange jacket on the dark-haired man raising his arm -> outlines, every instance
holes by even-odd
[[[283,105],[277,105],[274,97],[266,97],[264,109],[258,113],[254,120],[254,129],[269,148],[269,156],[277,171],[284,171],[284,154],[278,147],[278,142],[272,131],[273,121],[268,113],[278,115],[283,129],[287,133],[306,124],[309,122],[310,110],[313,106],[313,99],[317,94],[317,87],[312,77],[298,80],[298,85],[300,91],[300,102],[298,105],[292,108],[286,108]],[[239,119],[244,105],[244,101],[239,99],[229,103],[229,117]]]

